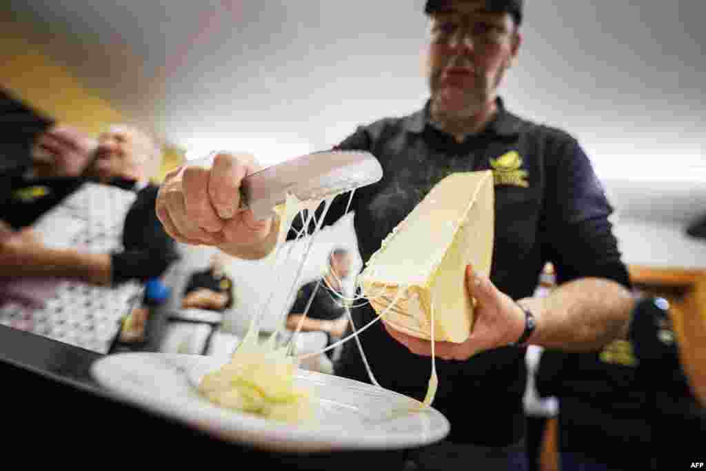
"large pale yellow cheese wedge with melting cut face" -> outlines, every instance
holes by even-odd
[[[473,324],[474,300],[465,269],[489,273],[493,252],[494,188],[491,171],[459,172],[439,181],[388,234],[366,263],[361,286],[381,314],[402,290],[384,321],[408,335],[461,343]]]

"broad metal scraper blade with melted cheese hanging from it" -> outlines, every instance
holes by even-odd
[[[191,160],[190,165],[211,167],[215,154]],[[380,162],[357,150],[333,150],[294,157],[248,175],[241,182],[241,207],[258,219],[273,215],[287,193],[299,200],[316,200],[367,186],[383,177]]]

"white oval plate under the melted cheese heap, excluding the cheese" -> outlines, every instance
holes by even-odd
[[[121,353],[92,365],[98,383],[119,398],[179,419],[222,439],[277,451],[382,450],[441,441],[448,420],[432,407],[409,412],[417,401],[340,376],[299,370],[297,381],[316,392],[316,425],[293,425],[227,410],[196,390],[222,357]],[[405,412],[397,412],[405,411]]]

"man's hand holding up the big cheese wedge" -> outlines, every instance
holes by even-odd
[[[466,268],[468,295],[476,299],[471,335],[463,343],[435,342],[436,356],[443,359],[467,360],[478,352],[504,347],[516,342],[525,330],[525,312],[513,299],[498,290],[491,280]],[[384,321],[383,321],[384,322]],[[431,342],[395,330],[385,329],[397,342],[414,354],[431,357]]]

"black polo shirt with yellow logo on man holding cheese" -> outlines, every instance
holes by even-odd
[[[364,262],[438,181],[453,172],[491,169],[496,213],[490,277],[499,290],[513,299],[532,296],[547,261],[558,282],[599,276],[629,285],[608,220],[612,208],[580,145],[561,130],[510,114],[499,99],[495,119],[462,143],[431,124],[427,103],[407,117],[359,127],[337,149],[369,151],[383,167],[381,181],[358,189],[350,208]],[[340,217],[347,202],[338,197],[327,222]],[[357,326],[376,317],[369,305],[352,314]],[[428,357],[390,338],[382,323],[360,338],[381,386],[424,398]],[[450,420],[451,441],[499,446],[522,437],[524,354],[502,347],[465,362],[436,360],[433,406]],[[356,342],[345,344],[336,373],[369,381]]]

